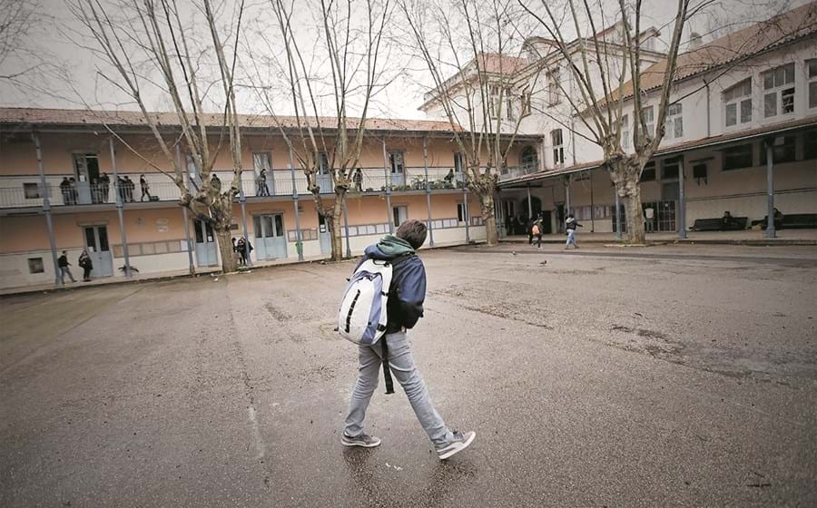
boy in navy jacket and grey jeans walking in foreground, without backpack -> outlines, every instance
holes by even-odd
[[[387,304],[386,334],[379,340],[386,341],[387,357],[383,358],[380,343],[359,346],[358,380],[349,402],[349,414],[340,443],[345,446],[372,448],[380,445],[380,439],[363,432],[363,420],[369,400],[378,386],[381,362],[388,361],[391,371],[408,396],[420,425],[428,434],[440,460],[464,450],[477,436],[475,432],[459,432],[446,426],[438,415],[428,388],[414,363],[406,331],[423,317],[423,301],[426,298],[426,269],[416,251],[426,240],[426,225],[419,220],[406,220],[394,236],[386,235],[375,245],[366,248],[366,259],[392,261],[403,260],[393,267]],[[358,266],[359,266],[358,265]]]

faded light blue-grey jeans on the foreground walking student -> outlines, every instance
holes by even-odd
[[[397,378],[400,386],[403,386],[408,402],[411,403],[414,414],[417,415],[431,442],[436,448],[448,445],[454,435],[434,409],[428,388],[417,366],[414,365],[414,357],[408,346],[408,335],[405,332],[389,334],[380,340],[385,340],[389,347],[389,367],[392,376]],[[383,346],[379,342],[374,346],[359,347],[358,381],[349,402],[349,415],[346,416],[345,432],[350,437],[363,433],[366,408],[369,407],[369,400],[378,387],[382,355]]]

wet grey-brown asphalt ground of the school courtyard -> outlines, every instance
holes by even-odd
[[[340,445],[352,264],[0,299],[0,506],[814,506],[817,249],[422,253],[405,395]]]

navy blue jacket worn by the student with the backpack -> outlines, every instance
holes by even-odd
[[[366,259],[391,260],[397,257],[384,253],[377,244],[369,245],[364,252],[366,255],[360,263]],[[412,256],[398,263],[391,272],[389,304],[386,307],[389,313],[386,333],[399,332],[402,327],[414,327],[418,319],[423,317],[425,299],[426,267],[423,266],[423,262],[417,256]]]

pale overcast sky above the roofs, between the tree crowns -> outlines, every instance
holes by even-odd
[[[5,5],[4,0],[0,5]],[[15,1],[15,0],[11,0]],[[37,1],[37,0],[34,0]],[[104,1],[104,0],[103,0]],[[183,4],[186,0],[179,0]],[[228,0],[231,1],[231,0]],[[702,0],[693,0],[694,3]],[[713,24],[722,24],[724,21],[757,21],[776,14],[782,10],[792,8],[796,5],[808,3],[807,0],[723,0],[716,2],[702,15],[694,18],[689,28],[684,32],[684,41],[688,39],[688,34],[692,31],[707,34]],[[127,97],[122,93],[116,93],[111,85],[105,86],[100,83],[96,75],[96,61],[94,54],[88,50],[77,47],[70,42],[66,34],[71,34],[81,30],[80,25],[73,19],[63,0],[39,0],[40,8],[38,13],[46,14],[42,23],[38,24],[34,31],[29,34],[25,45],[28,49],[47,55],[47,60],[54,64],[59,64],[68,72],[67,77],[40,79],[37,86],[43,90],[34,91],[31,88],[21,90],[19,87],[11,86],[9,83],[0,80],[0,105],[15,107],[64,107],[82,108],[84,103],[92,104],[94,107],[105,107],[109,109],[135,109],[133,103],[129,103]],[[265,3],[256,4],[256,12],[253,15],[253,26],[263,26],[265,23],[262,6]],[[528,2],[528,4],[535,4]],[[649,0],[645,2],[645,20],[643,26],[655,25],[662,31],[662,36],[668,36],[671,30],[672,16],[674,14],[674,0]],[[259,14],[261,13],[261,14]],[[308,17],[301,16],[301,23],[311,24]],[[392,23],[400,23],[399,15],[395,16]],[[272,16],[269,16],[269,24],[274,23]],[[312,24],[314,26],[314,24]],[[270,34],[274,30],[270,29]],[[544,35],[544,31],[537,34]],[[704,35],[704,42],[708,42],[711,37]],[[389,62],[401,62],[407,64],[408,56],[400,54],[400,48],[395,47],[389,55]],[[3,63],[0,74],[14,72],[28,62],[25,59],[7,59]],[[423,86],[420,83],[428,83],[425,74],[421,72],[419,63],[409,65],[411,69],[400,75],[396,81],[391,83],[383,92],[379,93],[374,104],[374,116],[389,116],[398,118],[424,118],[422,112],[418,111],[422,103]],[[412,70],[413,69],[413,70]],[[240,104],[242,112],[263,112],[261,103],[253,93],[240,91]],[[77,96],[82,96],[83,100],[78,100]],[[166,99],[157,94],[148,101],[152,109],[170,110],[171,105]]]

